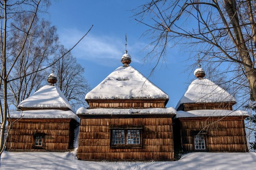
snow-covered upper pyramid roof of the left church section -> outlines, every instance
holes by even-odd
[[[18,107],[29,108],[69,108],[75,113],[67,98],[57,86],[46,85],[27,99],[20,102]]]

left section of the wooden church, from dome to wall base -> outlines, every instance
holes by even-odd
[[[48,77],[43,86],[21,101],[21,111],[10,112],[12,122],[7,151],[66,152],[73,150],[74,130],[79,125],[75,110],[61,90],[54,86],[56,75]]]

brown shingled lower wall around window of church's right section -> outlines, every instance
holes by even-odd
[[[191,131],[200,130],[207,132],[208,152],[248,152],[244,120],[181,121],[180,125],[184,152],[194,151]]]

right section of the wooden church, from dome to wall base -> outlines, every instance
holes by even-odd
[[[248,152],[244,119],[248,113],[233,110],[235,98],[204,78],[202,68],[195,70],[198,78],[178,102],[175,122],[175,151]]]

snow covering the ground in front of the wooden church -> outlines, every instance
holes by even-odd
[[[206,153],[183,155],[168,162],[91,162],[76,159],[73,152],[6,152],[1,169],[111,169],[111,170],[251,170],[256,167],[256,153]]]

